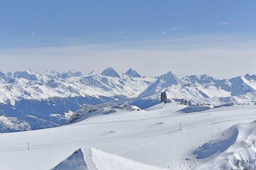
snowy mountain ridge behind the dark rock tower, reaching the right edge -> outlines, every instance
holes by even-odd
[[[159,103],[159,93],[165,92],[169,102],[187,99],[189,105],[213,105],[256,103],[256,80],[238,76],[218,80],[210,76],[184,76],[168,72],[141,93],[133,105],[147,108]]]

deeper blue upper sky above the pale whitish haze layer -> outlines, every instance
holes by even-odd
[[[0,3],[2,47],[256,30],[255,0],[3,0]]]

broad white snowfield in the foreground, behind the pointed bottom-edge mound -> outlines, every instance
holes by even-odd
[[[141,111],[98,114],[63,127],[3,133],[0,169],[50,170],[80,148],[92,147],[173,170],[233,170],[236,163],[245,167],[247,161],[254,166],[256,107],[201,107],[160,103]]]

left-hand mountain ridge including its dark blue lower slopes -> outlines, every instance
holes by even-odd
[[[31,69],[0,73],[0,111],[4,114],[0,121],[5,122],[0,132],[61,126],[70,119],[72,114],[68,113],[82,104],[130,102],[154,81],[118,73],[113,68],[102,74],[37,73]],[[36,119],[40,123],[35,123]],[[17,127],[14,121],[24,126]]]

